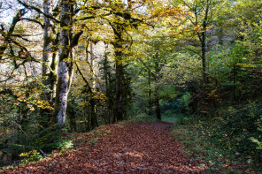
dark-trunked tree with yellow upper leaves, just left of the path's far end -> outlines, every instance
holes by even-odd
[[[135,18],[135,9],[143,6],[144,2],[131,2],[127,4],[116,1],[112,3],[112,19],[107,19],[112,27],[113,38],[112,46],[115,55],[115,75],[116,75],[116,99],[115,99],[115,115],[117,120],[124,119],[127,116],[127,94],[128,78],[125,71],[124,57],[127,57],[127,50],[131,48],[133,39],[128,31],[131,28],[137,28],[139,23],[144,23],[143,19]],[[137,15],[137,13],[136,13]],[[139,15],[138,15],[139,16]],[[134,30],[133,30],[134,31]]]

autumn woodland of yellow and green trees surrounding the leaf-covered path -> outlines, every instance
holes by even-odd
[[[259,173],[261,63],[261,0],[0,0],[0,167],[167,122],[206,172]]]

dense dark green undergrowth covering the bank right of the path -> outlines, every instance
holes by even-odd
[[[216,115],[184,117],[173,126],[187,155],[209,164],[209,172],[262,171],[261,117],[256,103],[216,110]]]

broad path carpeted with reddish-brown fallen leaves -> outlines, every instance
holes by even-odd
[[[202,173],[173,140],[170,123],[105,125],[89,133],[69,133],[71,150],[4,173]]]

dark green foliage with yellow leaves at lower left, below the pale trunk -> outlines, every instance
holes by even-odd
[[[8,134],[5,137],[6,143],[1,146],[1,150],[10,158],[0,163],[1,165],[12,164],[12,160],[21,160],[22,163],[33,162],[42,158],[40,151],[49,154],[54,149],[65,151],[73,147],[72,141],[61,139],[65,130],[58,130],[57,125],[50,126],[41,132],[31,128],[30,131],[35,130],[35,134],[30,131],[25,132],[26,130],[27,128],[23,132]]]

